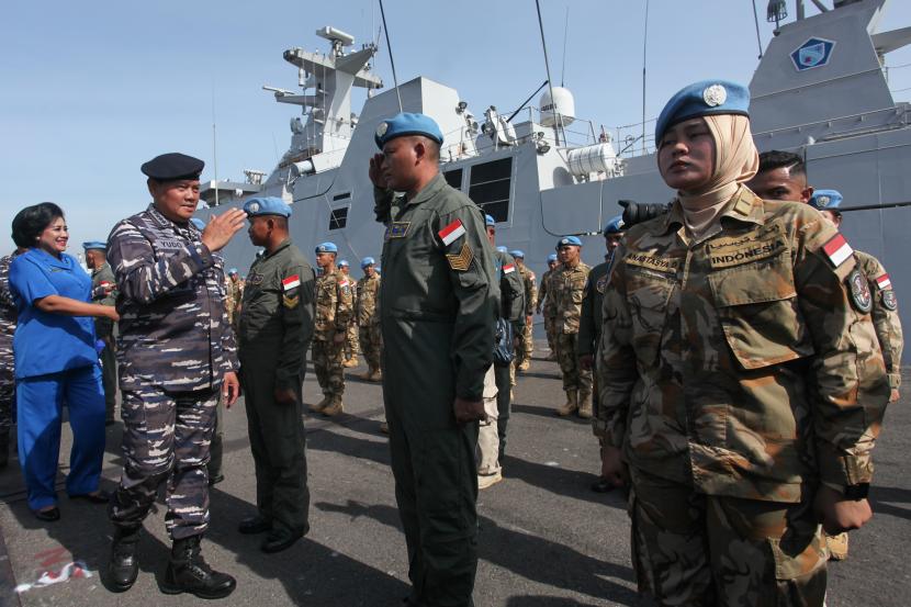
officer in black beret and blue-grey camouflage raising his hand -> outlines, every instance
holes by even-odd
[[[167,483],[165,522],[173,540],[162,592],[221,598],[236,585],[205,563],[200,540],[209,528],[205,464],[218,392],[226,406],[239,394],[224,260],[216,251],[243,229],[246,214],[232,209],[213,216],[202,232],[190,222],[202,169],[202,160],[177,153],[144,164],[153,203],[117,223],[108,237],[120,292],[124,423],[123,475],[109,509],[115,531],[106,581],[115,592],[136,581],[143,519],[161,483]]]

